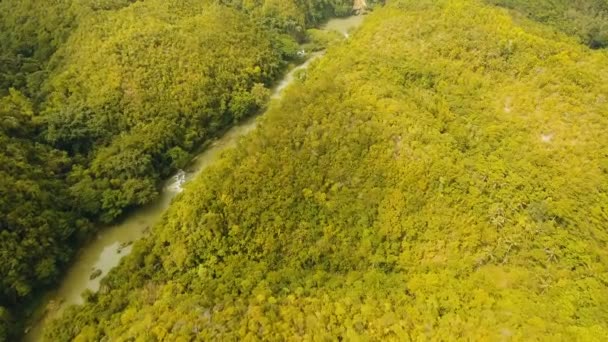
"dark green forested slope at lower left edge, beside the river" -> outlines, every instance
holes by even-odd
[[[16,90],[0,97],[0,341],[15,325],[8,308],[53,284],[91,228],[62,181],[70,158],[30,140],[33,113]]]

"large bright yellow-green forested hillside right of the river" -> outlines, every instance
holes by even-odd
[[[608,56],[512,15],[369,15],[47,339],[605,340]]]

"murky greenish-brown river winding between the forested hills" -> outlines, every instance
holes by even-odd
[[[328,21],[324,30],[338,31],[348,38],[350,32],[363,22],[363,16],[336,18]],[[315,53],[303,64],[288,72],[276,85],[272,99],[280,101],[281,94],[295,80],[299,70],[308,68],[323,52]],[[263,114],[262,114],[263,115]],[[183,186],[207,166],[217,160],[222,151],[236,145],[238,140],[256,127],[257,118],[253,117],[227,130],[221,138],[195,156],[186,170],[180,170],[164,182],[160,195],[152,203],[131,211],[126,218],[112,226],[102,227],[96,238],[85,245],[74,258],[57,289],[47,293],[30,321],[24,340],[42,340],[42,330],[53,318],[73,304],[82,304],[81,294],[85,290],[99,290],[101,279],[116,267],[120,260],[131,251],[131,244],[147,233],[171,204],[173,198],[182,191]],[[95,273],[95,277],[92,277]]]

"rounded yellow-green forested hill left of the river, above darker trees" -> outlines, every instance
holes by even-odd
[[[268,34],[222,6],[145,1],[98,15],[51,61],[46,138],[92,156],[73,192],[111,220],[153,197],[186,151],[259,108],[256,84],[280,58]]]

